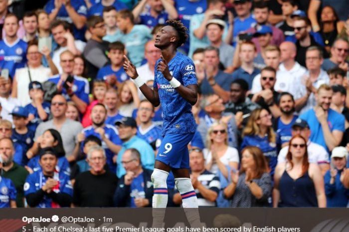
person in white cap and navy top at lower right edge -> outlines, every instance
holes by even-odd
[[[348,151],[345,147],[335,147],[332,151],[331,162],[333,168],[325,175],[325,193],[327,207],[347,207],[349,189],[344,187],[341,177],[348,160]]]

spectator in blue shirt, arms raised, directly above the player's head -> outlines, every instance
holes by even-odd
[[[177,10],[169,0],[140,0],[132,13],[137,23],[149,28],[178,17]]]

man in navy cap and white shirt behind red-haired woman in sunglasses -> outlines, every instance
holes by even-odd
[[[310,138],[311,131],[307,121],[303,119],[296,119],[292,125],[291,135],[301,135],[307,140],[308,147],[308,160],[310,163],[318,164],[321,170],[321,173],[325,175],[327,170],[330,169],[330,159],[328,152],[324,149],[323,146],[320,146],[317,143],[312,142]],[[286,155],[289,150],[289,146],[283,147],[278,156],[278,163],[286,162]]]

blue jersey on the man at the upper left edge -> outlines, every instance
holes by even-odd
[[[8,69],[13,78],[17,68],[22,68],[26,63],[27,44],[21,39],[8,44],[6,39],[0,41],[0,69]]]

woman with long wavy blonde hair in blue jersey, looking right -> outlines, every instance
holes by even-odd
[[[271,118],[272,115],[266,109],[255,109],[251,112],[247,125],[242,132],[241,150],[246,146],[260,148],[269,162],[270,174],[273,176],[278,162],[278,151]]]

